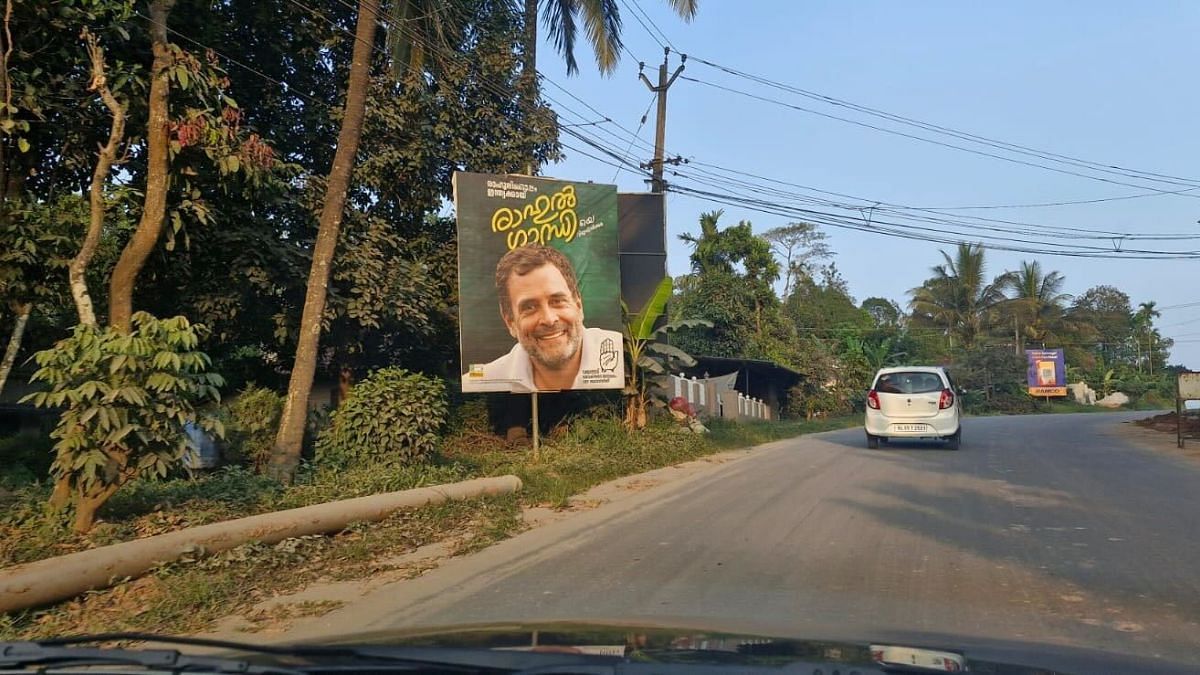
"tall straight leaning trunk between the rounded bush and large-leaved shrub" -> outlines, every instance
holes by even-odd
[[[300,464],[304,443],[304,425],[308,413],[308,394],[317,370],[317,350],[320,346],[322,317],[325,313],[325,294],[329,273],[337,249],[337,235],[342,225],[346,193],[354,171],[354,157],[362,137],[362,119],[366,113],[367,86],[371,79],[371,52],[374,46],[378,22],[376,0],[359,0],[359,17],[354,29],[354,56],[350,62],[349,82],[346,91],[346,112],[342,129],[337,135],[337,151],[329,171],[325,186],[325,203],[320,210],[317,243],[308,270],[308,288],[305,293],[304,313],[300,318],[300,335],[296,341],[295,364],[288,382],[288,398],[280,418],[280,431],[275,437],[268,473],[283,483],[290,483]]]

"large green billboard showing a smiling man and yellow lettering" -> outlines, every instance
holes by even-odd
[[[617,187],[455,173],[463,392],[620,389]]]

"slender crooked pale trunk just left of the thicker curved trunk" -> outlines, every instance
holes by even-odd
[[[104,183],[108,181],[108,173],[116,162],[116,149],[125,137],[125,108],[108,88],[104,74],[104,50],[100,48],[95,36],[86,29],[84,29],[84,40],[88,42],[88,54],[91,56],[91,86],[89,90],[100,92],[101,100],[109,114],[113,115],[113,123],[108,130],[108,143],[101,147],[96,168],[91,174],[91,190],[89,191],[91,219],[88,223],[88,234],[84,237],[79,252],[67,267],[67,279],[71,282],[71,297],[74,298],[79,323],[96,325],[96,310],[91,303],[91,294],[88,292],[88,263],[96,253],[100,234],[104,228]]]

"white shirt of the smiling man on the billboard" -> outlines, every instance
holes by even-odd
[[[625,386],[624,338],[617,330],[584,328],[580,371],[571,389],[620,389]],[[463,392],[533,393],[533,364],[520,342],[487,364],[472,364],[462,376]]]

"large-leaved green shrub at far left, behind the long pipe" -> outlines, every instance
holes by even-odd
[[[49,390],[24,400],[62,408],[52,437],[54,476],[74,496],[76,527],[137,477],[163,478],[188,448],[184,426],[198,423],[221,436],[221,423],[197,407],[220,401],[220,375],[197,351],[204,327],[184,317],[133,316],[133,331],[77,325],[54,348],[38,352],[34,375]]]

